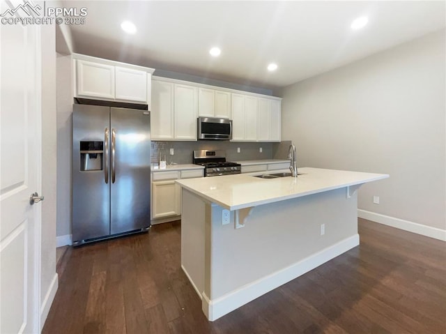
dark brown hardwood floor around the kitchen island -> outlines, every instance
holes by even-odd
[[[446,333],[446,243],[359,231],[359,247],[214,322],[180,268],[180,222],[69,248],[43,333]]]

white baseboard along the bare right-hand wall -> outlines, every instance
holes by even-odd
[[[381,215],[380,213],[365,211],[359,208],[357,209],[357,216],[359,218],[371,220],[372,222],[378,222],[383,225],[396,227],[397,229],[403,229],[404,231],[446,241],[446,229],[437,229],[436,227],[418,224],[417,222],[409,222],[408,220],[390,217],[389,215]]]

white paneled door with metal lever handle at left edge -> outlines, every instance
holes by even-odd
[[[37,24],[1,24],[0,333],[40,332],[39,54]]]

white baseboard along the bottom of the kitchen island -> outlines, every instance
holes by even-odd
[[[225,314],[240,308],[240,306],[243,306],[250,301],[254,301],[254,299],[259,296],[262,296],[263,294],[280,287],[282,284],[294,280],[300,275],[334,259],[334,257],[351,250],[351,248],[354,248],[359,244],[359,235],[355,234],[354,236],[339,241],[339,243],[335,243],[334,245],[302,259],[291,266],[246,284],[244,287],[240,287],[240,289],[232,291],[220,298],[210,300],[208,296],[203,293],[203,298],[201,298],[203,312],[210,321],[215,321]]]

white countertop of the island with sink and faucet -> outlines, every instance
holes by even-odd
[[[291,176],[277,179],[254,177],[254,175],[281,171],[184,179],[176,182],[209,202],[219,204],[229,210],[238,210],[389,177],[387,174],[309,167],[299,168],[298,172],[302,175],[299,175],[297,179]],[[283,172],[289,172],[289,170],[284,169]]]

